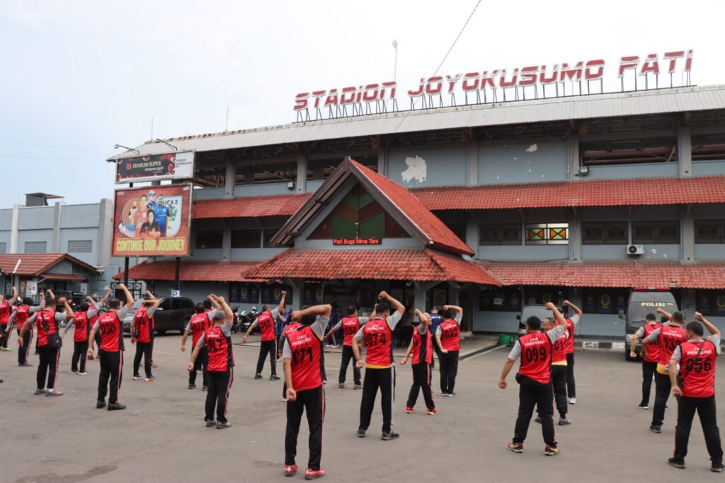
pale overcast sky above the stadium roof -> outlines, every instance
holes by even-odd
[[[432,75],[465,1],[0,1],[0,207],[112,198],[114,144],[294,122],[299,92]],[[515,7],[514,7],[515,6]],[[720,1],[483,1],[439,74],[694,49],[725,83]],[[613,88],[616,88],[616,83]],[[6,177],[10,175],[10,177]]]

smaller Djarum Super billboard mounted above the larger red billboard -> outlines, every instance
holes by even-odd
[[[194,151],[116,160],[116,184],[188,180],[192,177],[194,177]]]

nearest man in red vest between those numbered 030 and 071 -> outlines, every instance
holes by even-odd
[[[191,361],[186,369],[194,370],[196,358],[199,357],[202,348],[206,348],[209,354],[209,387],[207,388],[207,401],[204,405],[204,421],[207,428],[216,426],[217,429],[224,429],[231,426],[226,419],[226,413],[229,407],[229,391],[234,380],[234,355],[231,345],[231,326],[234,322],[234,314],[223,297],[216,297],[215,301],[222,310],[215,311],[212,316],[214,325],[204,331],[204,334],[196,341],[194,352],[191,353]],[[216,421],[214,420],[215,409]]]

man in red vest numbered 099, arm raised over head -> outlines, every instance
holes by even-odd
[[[508,449],[514,453],[523,453],[523,441],[529,432],[534,406],[537,406],[542,417],[542,433],[546,444],[544,455],[559,454],[554,432],[550,361],[554,343],[564,334],[566,320],[553,303],[547,303],[546,308],[552,311],[554,319],[559,324],[547,332],[540,332],[542,321],[539,317],[531,316],[526,319],[526,335],[522,335],[516,341],[499,379],[499,387],[506,389],[508,386],[506,377],[516,359],[521,358],[521,367],[516,374],[516,382],[519,384],[518,418],[513,441],[508,445]]]

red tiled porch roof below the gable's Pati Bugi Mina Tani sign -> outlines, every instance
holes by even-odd
[[[480,264],[422,250],[289,249],[247,272],[247,278],[273,280],[420,280],[500,285]]]

